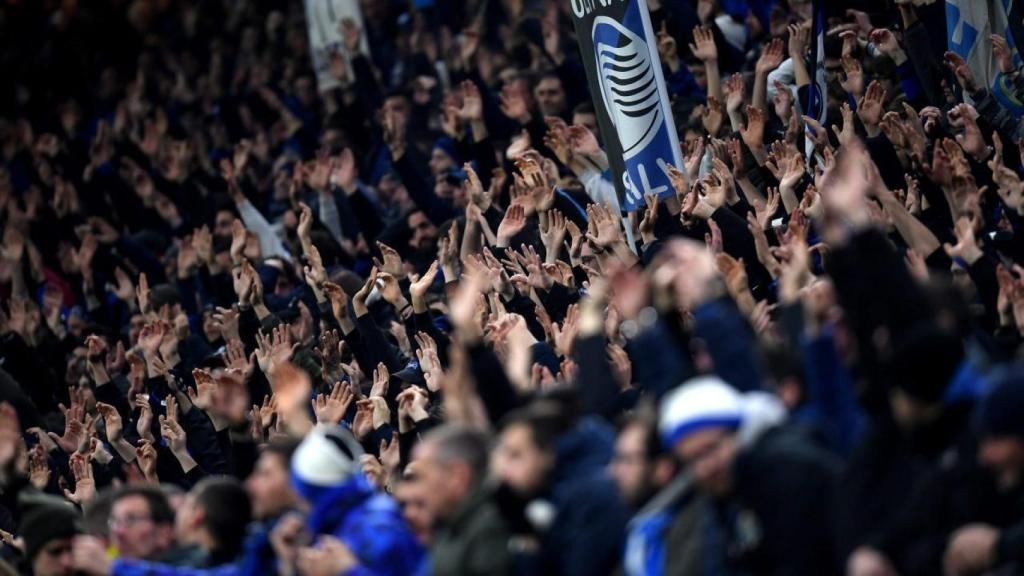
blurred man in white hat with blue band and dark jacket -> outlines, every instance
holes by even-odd
[[[718,537],[705,539],[709,562],[755,574],[839,573],[838,462],[784,419],[773,396],[700,376],[665,396],[658,434],[711,502]]]

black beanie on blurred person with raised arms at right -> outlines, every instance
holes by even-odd
[[[900,335],[890,362],[892,385],[914,400],[935,403],[964,360],[964,343],[954,334],[932,323],[915,326]]]

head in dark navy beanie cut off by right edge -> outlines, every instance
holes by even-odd
[[[1024,481],[1024,377],[1015,372],[1000,375],[978,409],[978,461],[1008,490]]]

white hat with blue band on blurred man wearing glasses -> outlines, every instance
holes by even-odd
[[[717,376],[699,376],[665,395],[658,433],[662,442],[671,449],[697,430],[738,428],[742,421],[742,396]]]

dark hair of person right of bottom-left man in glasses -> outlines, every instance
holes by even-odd
[[[217,543],[217,551],[225,558],[238,556],[252,519],[252,504],[242,483],[230,477],[205,478],[193,494],[205,512],[203,524]]]

